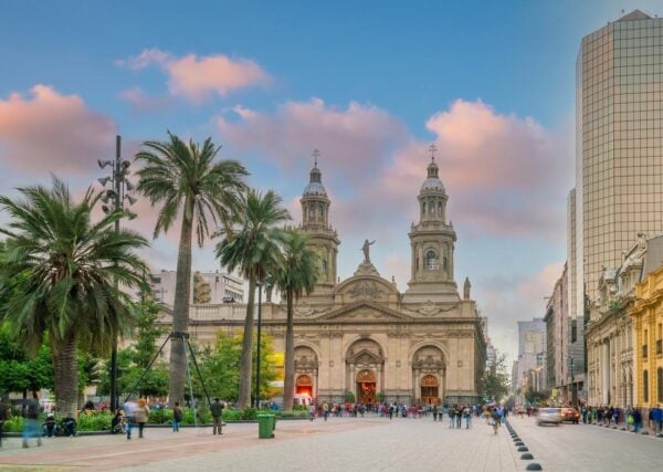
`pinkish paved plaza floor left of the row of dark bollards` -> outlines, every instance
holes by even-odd
[[[280,422],[273,440],[257,439],[256,424],[234,424],[222,437],[210,429],[146,430],[144,440],[122,437],[56,438],[43,448],[20,449],[9,439],[0,465],[125,471],[522,471],[505,428],[493,434],[485,421],[470,430],[422,419],[330,418]]]

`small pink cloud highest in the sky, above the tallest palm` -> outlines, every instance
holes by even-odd
[[[116,64],[134,71],[158,65],[168,76],[170,94],[193,103],[270,82],[270,75],[256,62],[223,54],[177,57],[158,49],[146,49],[137,56],[116,61]]]

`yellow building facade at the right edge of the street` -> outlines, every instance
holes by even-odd
[[[635,405],[649,410],[663,405],[663,265],[635,285],[630,315],[635,336]]]

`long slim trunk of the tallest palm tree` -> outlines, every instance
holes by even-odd
[[[172,332],[189,332],[189,297],[191,295],[191,238],[193,235],[193,198],[187,196],[185,214],[177,253],[177,279],[175,282],[175,306],[172,308]],[[185,400],[185,378],[187,374],[186,342],[170,339],[170,377],[168,381],[168,403]]]

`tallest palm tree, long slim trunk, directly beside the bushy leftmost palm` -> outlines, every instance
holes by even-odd
[[[168,136],[168,141],[145,141],[145,149],[136,154],[136,160],[145,164],[137,172],[138,190],[152,207],[161,204],[155,239],[161,231],[167,232],[181,213],[172,332],[188,333],[193,227],[201,248],[211,234],[210,223],[214,224],[212,232],[222,225],[230,233],[238,219],[249,172],[236,160],[214,161],[220,148],[211,138],[200,146],[192,140],[187,144],[171,133]],[[171,339],[168,388],[171,406],[185,397],[185,347],[179,336]]]

